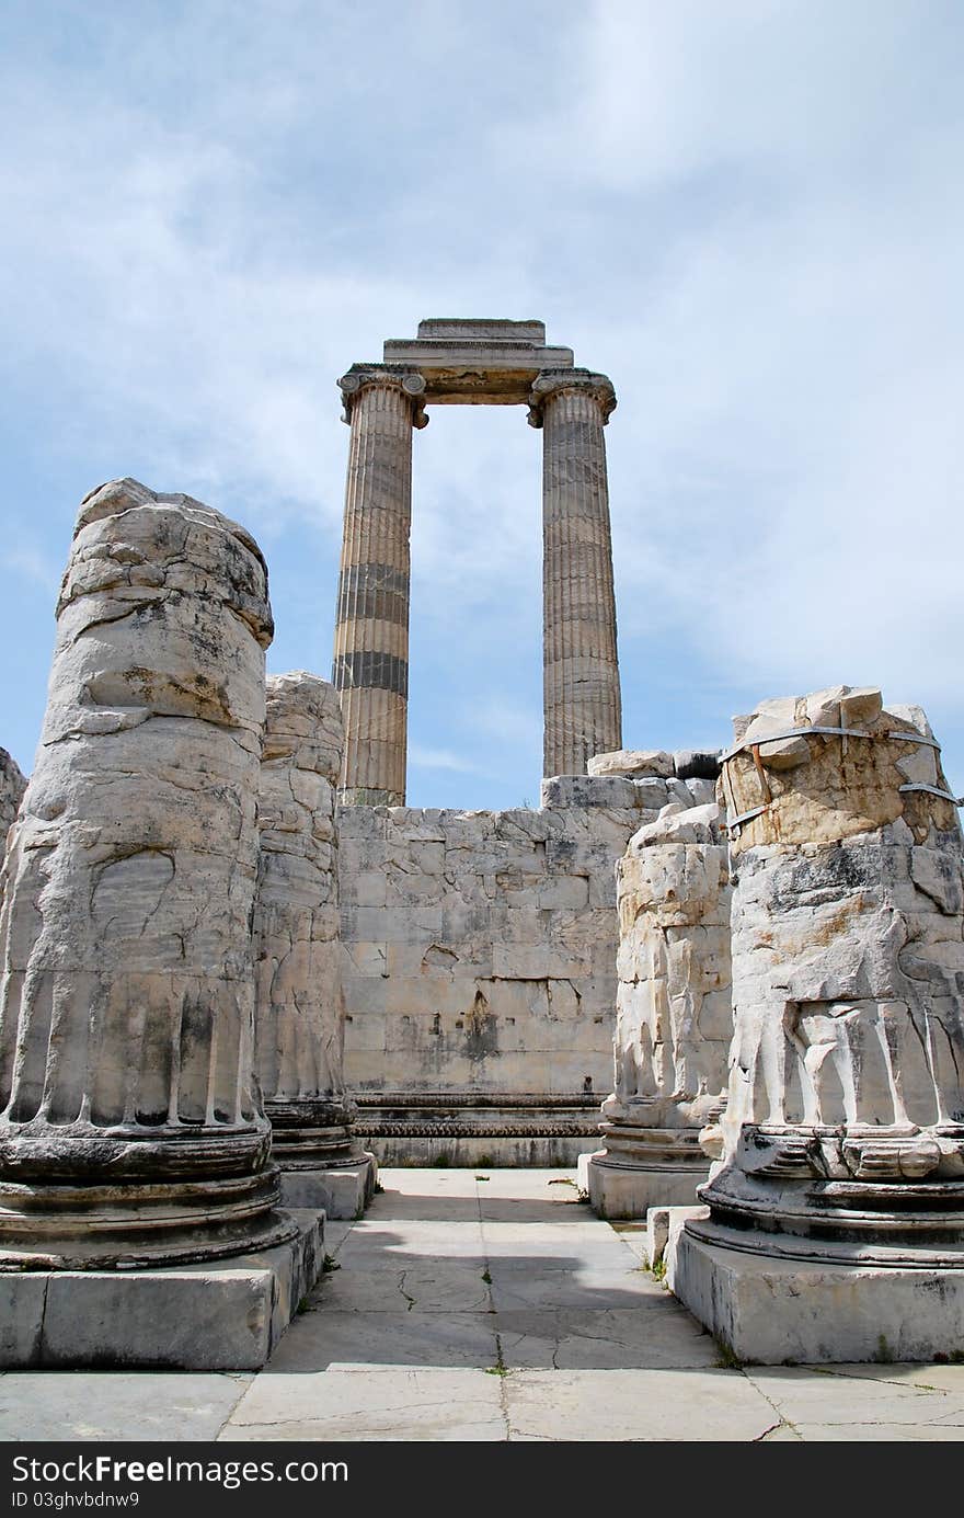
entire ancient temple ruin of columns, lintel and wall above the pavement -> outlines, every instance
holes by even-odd
[[[0,1365],[261,1365],[375,1160],[578,1161],[741,1359],[964,1356],[926,716],[838,686],[624,750],[609,381],[540,323],[424,322],[340,384],[331,685],[266,677],[244,528],[82,502],[26,791],[0,751]],[[537,809],[404,805],[411,430],[457,402],[543,431]]]

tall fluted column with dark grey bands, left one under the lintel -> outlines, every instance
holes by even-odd
[[[331,671],[345,716],[340,800],[404,806],[411,428],[427,422],[425,381],[370,367],[339,386],[351,425]]]

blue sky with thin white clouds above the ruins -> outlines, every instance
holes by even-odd
[[[6,0],[0,744],[74,512],[244,522],[269,668],[329,672],[334,381],[427,316],[609,373],[624,738],[882,683],[964,789],[956,0]],[[408,798],[536,802],[540,437],[414,437]]]

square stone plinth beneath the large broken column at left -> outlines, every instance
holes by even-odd
[[[263,1254],[146,1271],[0,1277],[0,1369],[257,1371],[319,1277],[323,1216]]]

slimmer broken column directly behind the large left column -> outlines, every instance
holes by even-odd
[[[258,795],[255,1069],[291,1207],[354,1217],[375,1163],[345,1094],[339,862],[342,712],[316,676],[269,676]]]

